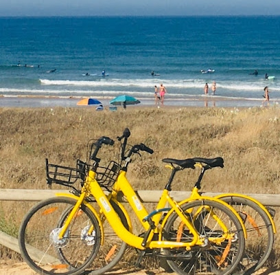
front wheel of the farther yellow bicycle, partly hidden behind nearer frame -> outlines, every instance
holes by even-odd
[[[110,203],[119,215],[121,222],[128,229],[128,222],[126,221],[124,212],[121,211],[121,208],[119,208],[117,203],[115,203],[113,200],[110,200]],[[91,204],[95,210],[99,208],[97,203]],[[65,219],[72,208],[73,206],[71,206],[71,208],[69,208],[64,214],[62,214],[62,217],[58,223],[59,228],[65,222]],[[115,234],[104,215],[101,215],[101,219],[104,229],[104,243],[100,245],[100,250],[97,252],[96,256],[92,258],[92,263],[86,267],[86,273],[89,274],[90,272],[91,275],[104,274],[104,272],[112,270],[113,267],[119,263],[127,248],[127,244],[124,241],[121,241],[117,234]],[[61,256],[64,259],[64,255]],[[67,261],[67,259],[65,259],[65,261]]]

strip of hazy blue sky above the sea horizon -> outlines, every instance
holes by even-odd
[[[1,0],[0,17],[280,15],[280,0]]]

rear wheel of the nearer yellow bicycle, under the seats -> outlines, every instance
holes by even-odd
[[[171,269],[180,275],[231,274],[242,259],[245,240],[242,225],[231,209],[217,201],[200,199],[181,206],[204,245],[191,250],[185,248],[164,249],[163,254]],[[226,225],[226,232],[220,224]],[[189,242],[193,235],[174,212],[163,228],[169,241]],[[224,238],[227,235],[228,237]],[[218,241],[220,239],[220,241]]]

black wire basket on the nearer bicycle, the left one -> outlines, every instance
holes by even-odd
[[[88,172],[88,165],[82,162],[80,159],[77,160],[75,168],[69,166],[61,166],[56,164],[49,164],[46,159],[46,173],[47,173],[47,184],[61,184],[63,186],[71,186],[75,184],[78,179],[84,181]]]

